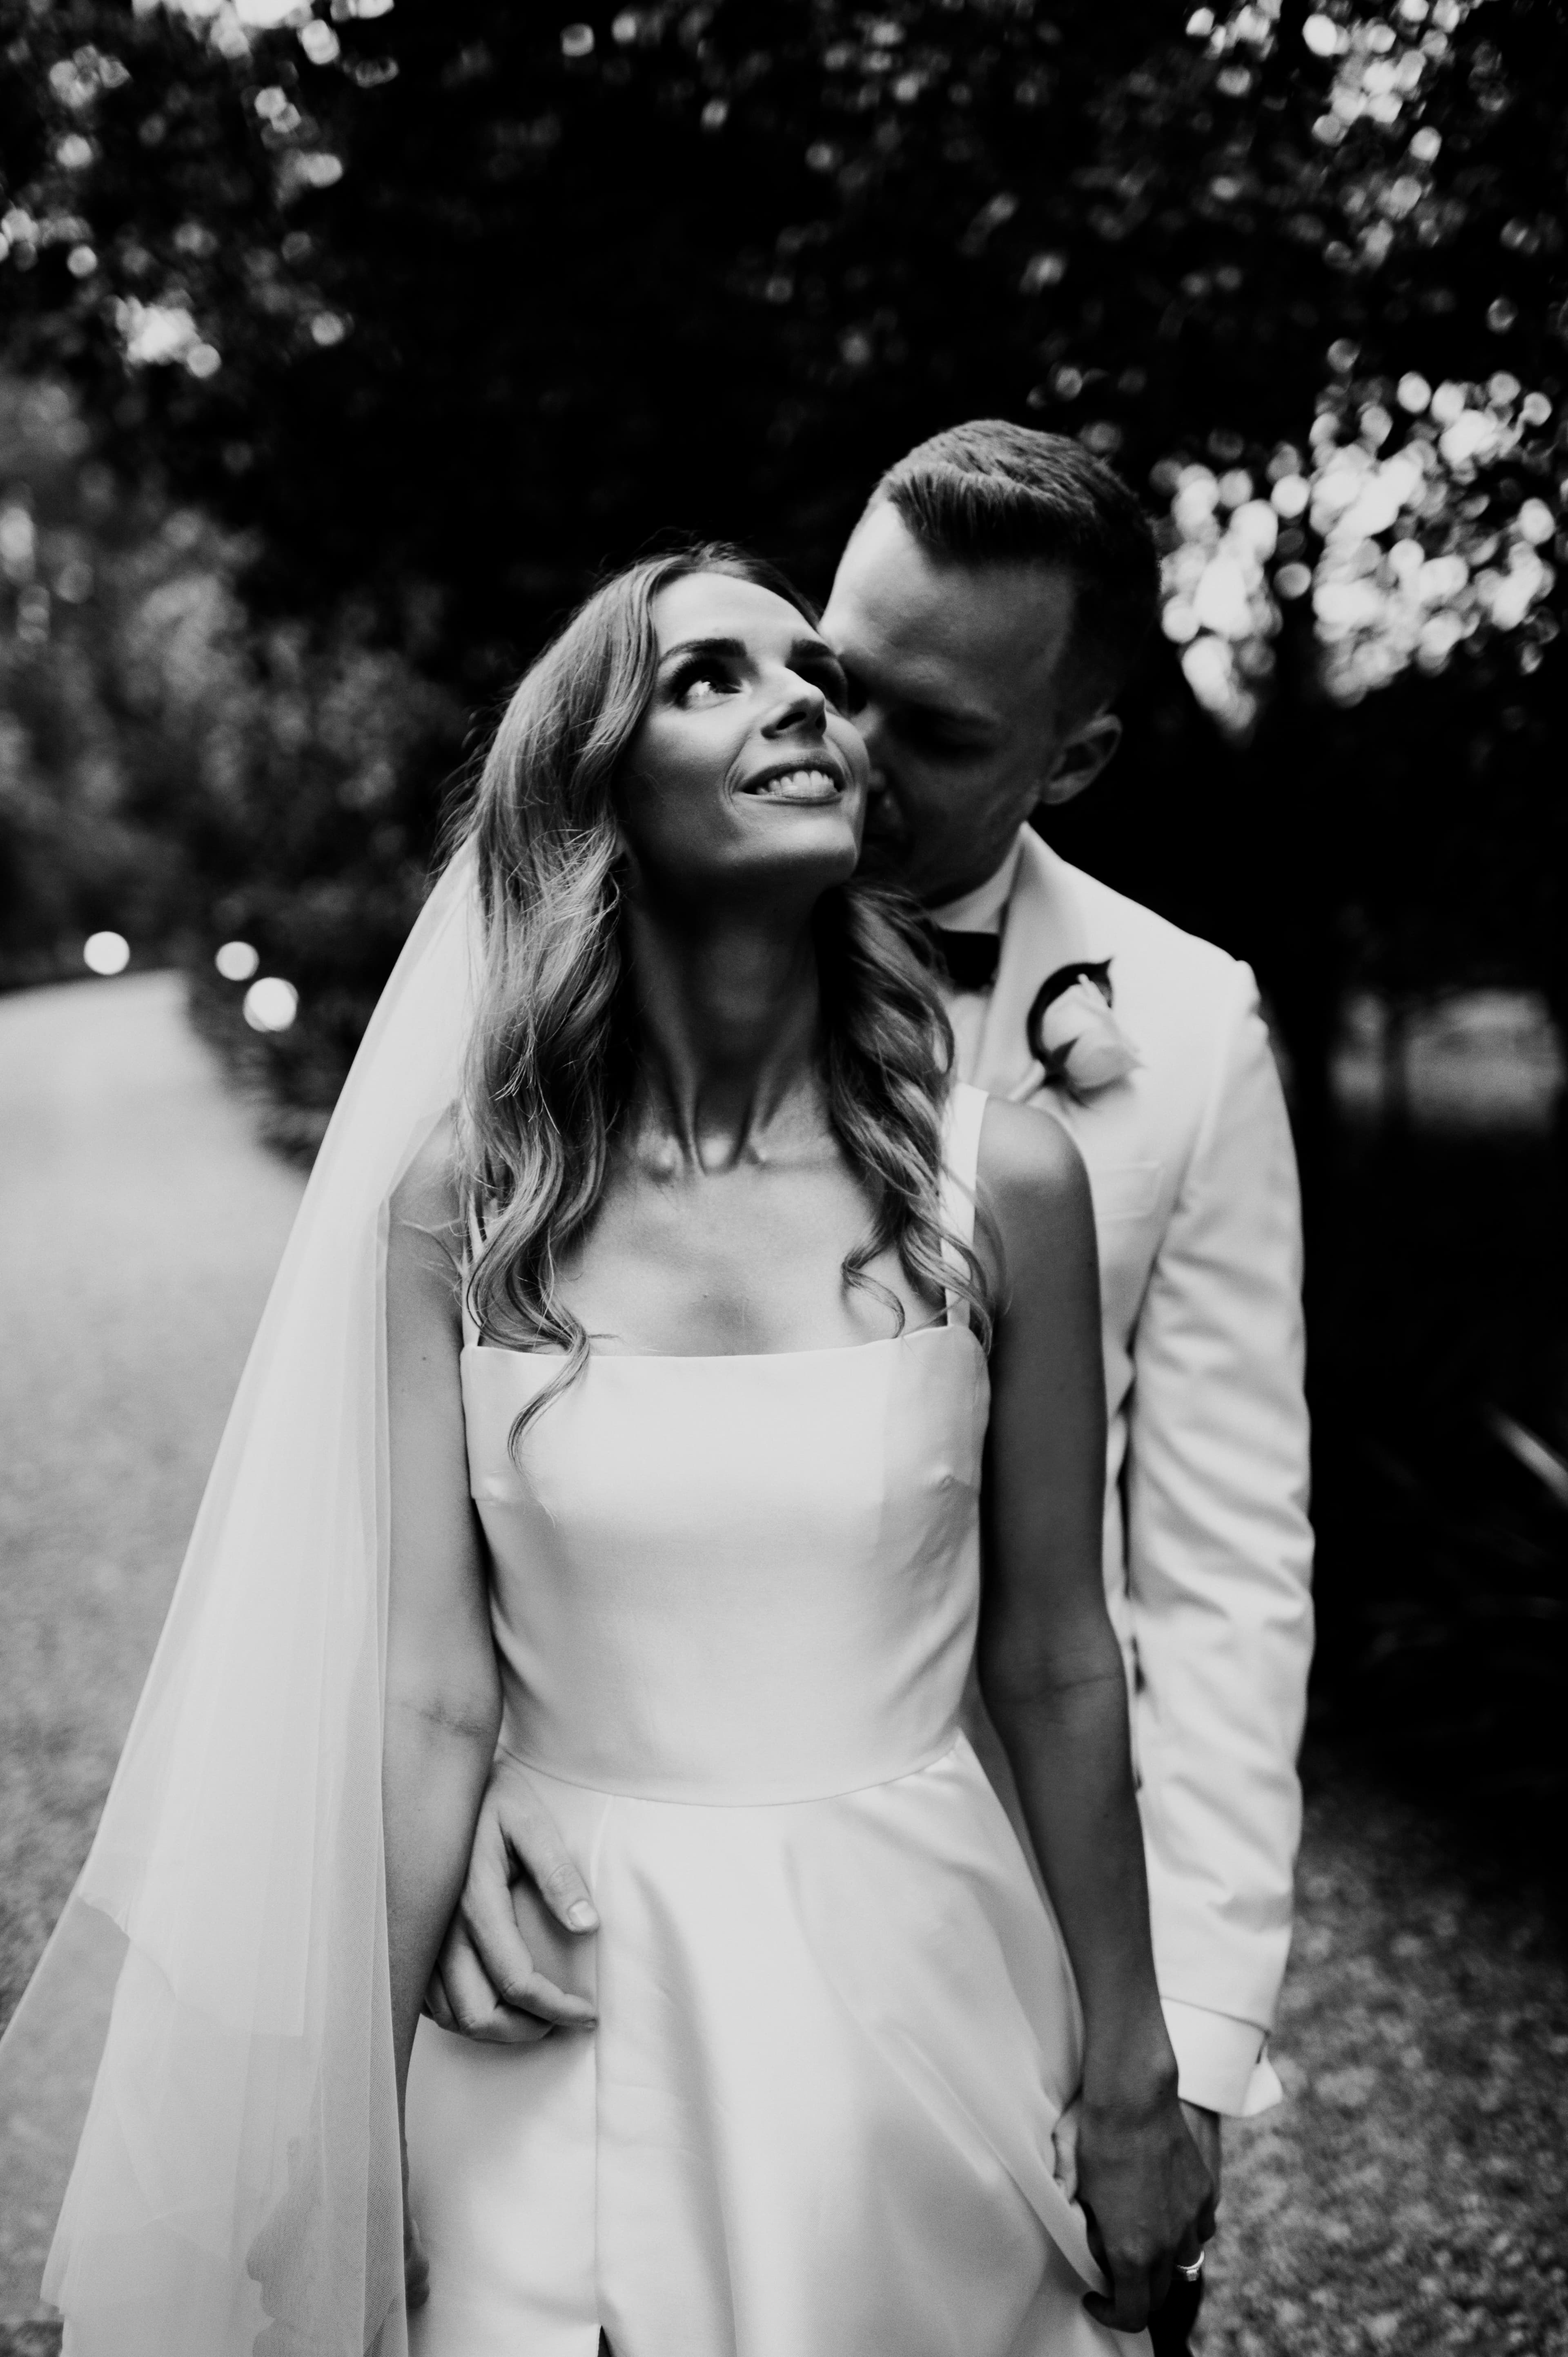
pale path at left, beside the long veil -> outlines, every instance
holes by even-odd
[[[0,997],[0,2025],[87,1850],[297,1200],[174,976]]]

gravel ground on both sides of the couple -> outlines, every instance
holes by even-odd
[[[297,1195],[172,978],[0,999],[0,2020],[87,1848]],[[1568,1966],[1540,1895],[1316,1765],[1276,2058],[1290,2100],[1228,2138],[1203,2357],[1568,2357]],[[0,2357],[57,2350],[7,2315]]]

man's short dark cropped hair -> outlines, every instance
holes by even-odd
[[[1120,474],[1068,434],[971,417],[889,467],[868,507],[884,500],[950,563],[1063,566],[1078,585],[1070,705],[1087,717],[1120,695],[1160,610],[1153,530]]]

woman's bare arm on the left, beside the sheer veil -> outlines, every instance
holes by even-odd
[[[387,1419],[391,1593],[382,1820],[398,2114],[500,1732],[486,1565],[460,1386],[457,1211],[443,1134],[391,1197]]]

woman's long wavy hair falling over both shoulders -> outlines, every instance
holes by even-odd
[[[483,907],[483,969],[457,1105],[457,1190],[476,1240],[469,1313],[502,1348],[564,1351],[521,1433],[587,1362],[587,1332],[556,1287],[594,1216],[611,1138],[637,1077],[637,1014],[620,924],[613,787],[653,698],[653,599],[724,573],[816,613],[757,556],[724,544],[648,556],[608,580],[526,672],[486,757],[465,827]],[[832,1129],[870,1197],[844,1282],[894,1249],[920,1292],[962,1294],[981,1343],[993,1301],[981,1261],[941,1216],[941,1117],[953,1032],[917,912],[856,879],[816,907],[823,1080]]]

